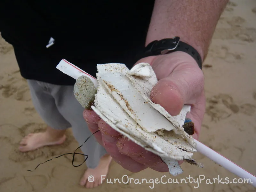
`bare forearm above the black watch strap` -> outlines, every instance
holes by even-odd
[[[228,0],[156,0],[146,45],[154,40],[179,36],[204,60],[227,3]]]

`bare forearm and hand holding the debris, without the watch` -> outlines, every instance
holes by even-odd
[[[146,45],[154,40],[179,36],[193,46],[205,59],[216,24],[227,0],[156,0]],[[156,73],[157,84],[151,100],[163,106],[172,116],[178,115],[184,104],[191,105],[187,115],[195,125],[193,137],[198,140],[205,112],[204,74],[196,61],[185,52],[142,58],[135,63],[149,63]],[[168,172],[162,159],[124,138],[92,110],[84,110],[84,119],[98,142],[125,169],[139,172],[151,168]],[[181,163],[181,162],[180,162]]]

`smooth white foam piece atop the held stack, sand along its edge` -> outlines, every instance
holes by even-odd
[[[129,79],[124,74],[103,73],[98,74],[98,77],[103,80],[102,83],[121,107],[145,131],[155,132],[159,129],[171,131],[174,129],[174,126],[168,119],[141,97],[137,90],[131,86]],[[108,86],[115,89],[111,90]],[[129,106],[126,103],[129,103]]]

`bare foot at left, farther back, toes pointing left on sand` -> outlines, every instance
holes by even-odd
[[[61,137],[52,137],[49,133],[40,132],[40,133],[29,133],[20,141],[19,150],[21,152],[32,151],[37,148],[47,146],[47,145],[59,145],[66,140],[66,135]]]

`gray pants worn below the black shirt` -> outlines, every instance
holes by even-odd
[[[54,85],[36,80],[27,81],[35,109],[45,123],[57,130],[72,127],[75,139],[79,146],[82,145],[92,132],[84,121],[84,108],[74,96],[74,86]],[[95,168],[99,164],[100,157],[107,153],[93,136],[80,149],[88,155],[85,162],[88,168]]]

